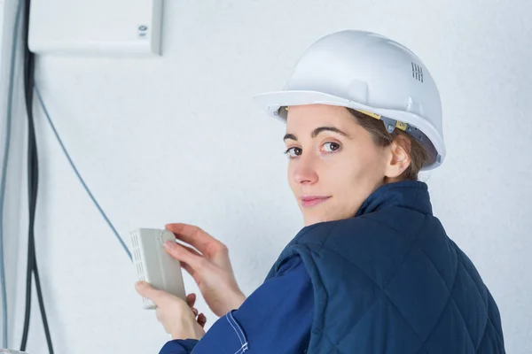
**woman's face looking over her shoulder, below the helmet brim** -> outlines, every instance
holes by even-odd
[[[355,216],[384,183],[391,159],[391,147],[376,146],[346,108],[332,105],[291,106],[285,143],[288,181],[305,226]]]

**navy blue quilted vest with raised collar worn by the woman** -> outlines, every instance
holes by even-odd
[[[354,218],[303,227],[266,279],[294,254],[314,286],[309,354],[505,353],[497,304],[423,182],[384,185]]]

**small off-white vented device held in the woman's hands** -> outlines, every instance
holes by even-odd
[[[139,281],[149,282],[153,288],[164,290],[186,301],[181,264],[164,249],[167,241],[176,242],[168,230],[137,228],[131,235],[131,256]],[[150,299],[143,297],[145,309],[156,309]]]

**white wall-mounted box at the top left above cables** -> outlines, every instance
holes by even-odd
[[[160,55],[162,0],[32,0],[37,54]]]

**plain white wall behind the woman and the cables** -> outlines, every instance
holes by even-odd
[[[531,12],[526,0],[167,1],[162,58],[39,58],[36,81],[121,235],[129,242],[136,227],[197,224],[229,245],[249,294],[302,227],[286,182],[285,127],[250,97],[281,89],[301,52],[333,31],[359,28],[403,42],[442,94],[448,158],[428,177],[434,212],[496,298],[507,351],[528,353]],[[156,352],[168,336],[141,310],[129,260],[36,112],[36,243],[56,352]],[[20,255],[16,343],[24,247],[12,250]],[[207,312],[207,320],[215,316]],[[27,349],[45,348],[35,307]]]

